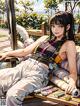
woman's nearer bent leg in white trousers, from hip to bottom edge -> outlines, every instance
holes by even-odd
[[[48,83],[48,69],[42,67],[34,60],[22,72],[22,79],[12,86],[7,92],[7,106],[22,106],[22,102],[28,94],[44,87]],[[30,67],[31,66],[31,67]]]

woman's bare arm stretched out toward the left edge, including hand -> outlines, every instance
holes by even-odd
[[[31,54],[33,52],[33,50],[35,49],[35,47],[37,45],[40,45],[40,43],[43,42],[44,40],[46,40],[47,37],[48,36],[40,37],[37,41],[35,41],[33,44],[27,46],[24,49],[18,49],[18,50],[2,53],[2,54],[0,54],[0,60],[5,59],[6,57],[10,57],[10,56],[23,57],[23,56],[26,56],[28,54]]]

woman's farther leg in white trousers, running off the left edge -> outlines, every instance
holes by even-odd
[[[0,70],[0,96],[21,79],[21,70],[23,63],[14,68],[5,68]]]

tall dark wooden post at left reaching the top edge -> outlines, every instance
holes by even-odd
[[[11,28],[11,46],[15,50],[17,48],[17,34],[16,34],[16,19],[15,19],[15,9],[14,0],[9,0],[9,10],[10,10],[10,28]]]

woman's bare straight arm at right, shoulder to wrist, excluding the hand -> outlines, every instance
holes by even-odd
[[[67,58],[69,63],[70,77],[76,82],[77,80],[77,65],[76,65],[76,46],[73,41],[66,43]]]

